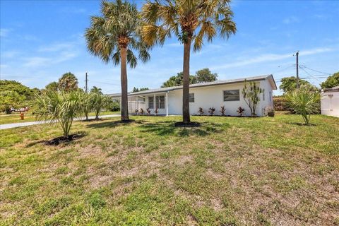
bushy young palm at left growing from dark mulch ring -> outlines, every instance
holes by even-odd
[[[73,120],[83,114],[84,93],[78,90],[56,92],[47,90],[36,95],[35,115],[38,120],[50,120],[50,124],[59,124],[64,137],[69,137]]]

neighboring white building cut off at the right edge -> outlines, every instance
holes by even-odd
[[[339,85],[322,91],[321,114],[339,117]]]

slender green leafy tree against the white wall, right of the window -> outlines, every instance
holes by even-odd
[[[263,89],[256,83],[249,82],[249,84],[247,84],[245,81],[244,88],[242,88],[242,97],[244,97],[246,104],[249,106],[252,117],[256,116],[256,105],[258,105],[258,102],[260,101],[260,93],[263,93]]]

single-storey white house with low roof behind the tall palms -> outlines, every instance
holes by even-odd
[[[192,84],[189,86],[189,112],[198,114],[199,107],[202,107],[204,114],[207,115],[208,109],[214,107],[215,114],[220,115],[220,107],[225,106],[226,115],[237,116],[238,107],[242,107],[246,109],[244,115],[250,116],[251,111],[242,97],[245,80],[256,82],[264,90],[260,94],[256,114],[266,115],[266,109],[273,108],[272,92],[277,89],[272,75]],[[121,95],[110,96],[119,99]],[[158,114],[162,115],[182,114],[182,86],[129,93],[129,112],[133,114],[136,109],[140,112],[141,108],[144,110],[150,108],[151,114],[155,113],[155,108],[158,109]]]

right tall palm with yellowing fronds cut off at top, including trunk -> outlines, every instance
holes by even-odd
[[[174,34],[184,44],[184,81],[182,114],[184,124],[189,124],[189,57],[191,42],[198,51],[203,39],[211,42],[217,32],[228,38],[237,31],[232,21],[230,0],[166,0],[147,1],[142,8],[143,40],[146,44],[163,44]]]

